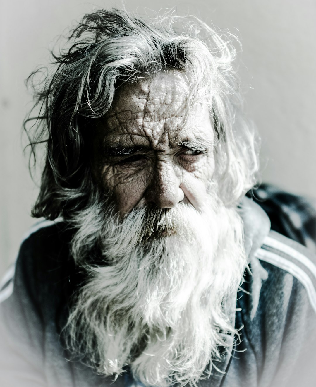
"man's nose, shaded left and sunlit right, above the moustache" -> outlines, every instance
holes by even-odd
[[[160,208],[172,208],[184,198],[180,180],[169,163],[161,162],[155,166],[145,199]]]

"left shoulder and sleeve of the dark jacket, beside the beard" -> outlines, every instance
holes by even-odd
[[[60,331],[72,293],[72,231],[41,221],[21,243],[0,292],[0,385],[75,385]],[[58,372],[56,372],[58,370]]]

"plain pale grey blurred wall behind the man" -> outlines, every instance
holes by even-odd
[[[38,188],[23,156],[22,121],[32,107],[24,80],[50,61],[59,34],[93,9],[121,1],[0,2],[0,277],[31,224]],[[261,137],[262,180],[316,197],[316,2],[314,0],[126,0],[145,14],[175,7],[241,39],[245,109]],[[44,257],[43,257],[44,258]]]

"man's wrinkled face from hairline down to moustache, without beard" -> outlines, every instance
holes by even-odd
[[[201,209],[214,172],[208,105],[188,105],[189,85],[177,71],[144,78],[115,95],[99,125],[104,187],[121,216],[152,203]]]

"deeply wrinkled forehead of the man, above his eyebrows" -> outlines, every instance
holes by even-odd
[[[118,90],[102,120],[106,139],[172,146],[179,136],[201,136],[208,117],[208,104],[190,100],[190,83],[185,74],[171,71],[144,77]],[[209,130],[208,130],[209,132]],[[203,134],[207,137],[206,134]]]

